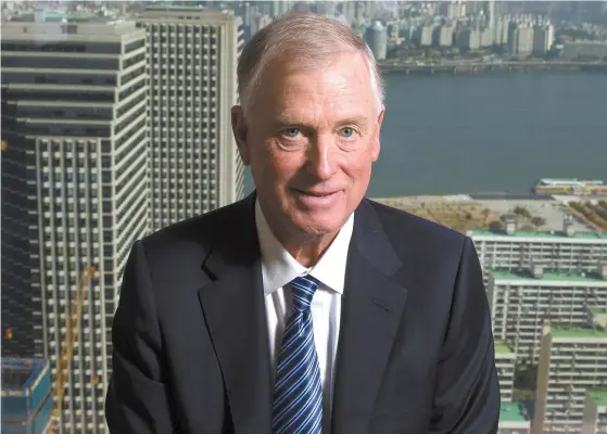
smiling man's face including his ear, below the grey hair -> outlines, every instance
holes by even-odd
[[[232,110],[232,126],[275,231],[339,231],[369,184],[382,118],[357,53],[318,69],[266,68],[245,117]]]

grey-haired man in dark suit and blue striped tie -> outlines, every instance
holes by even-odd
[[[255,192],[135,244],[111,432],[495,433],[471,241],[364,199],[384,113],[371,52],[337,21],[287,14],[238,79]]]

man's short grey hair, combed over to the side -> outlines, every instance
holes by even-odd
[[[238,94],[246,112],[260,86],[264,68],[278,58],[305,67],[325,66],[337,54],[352,50],[363,55],[369,69],[378,114],[383,106],[383,81],[372,51],[339,21],[306,12],[289,12],[257,31],[238,61]]]

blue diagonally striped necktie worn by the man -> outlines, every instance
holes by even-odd
[[[274,386],[274,434],[320,434],[323,390],[309,305],[318,281],[312,276],[291,281],[293,309],[278,354]]]

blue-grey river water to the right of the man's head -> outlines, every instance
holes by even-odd
[[[371,196],[607,181],[606,74],[390,75],[385,88]]]

